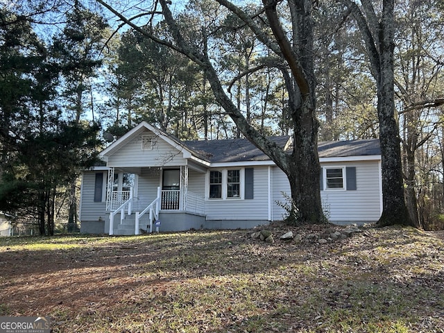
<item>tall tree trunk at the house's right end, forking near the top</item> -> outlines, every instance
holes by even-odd
[[[355,17],[366,43],[370,69],[376,80],[377,115],[382,158],[382,215],[377,223],[384,225],[413,225],[404,199],[399,126],[395,119],[394,81],[394,0],[384,0],[382,15],[377,17],[373,3],[339,0]],[[365,15],[364,15],[365,13]]]

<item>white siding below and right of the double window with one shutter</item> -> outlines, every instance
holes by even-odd
[[[205,200],[207,220],[266,220],[268,217],[268,167],[255,167],[253,182],[254,193],[251,200],[232,198]]]

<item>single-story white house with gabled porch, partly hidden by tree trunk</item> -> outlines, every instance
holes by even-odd
[[[273,137],[291,149],[291,137]],[[378,139],[320,142],[321,198],[330,222],[373,223],[382,213]],[[139,234],[252,228],[282,220],[284,172],[247,139],[180,141],[142,122],[83,172],[80,232]]]

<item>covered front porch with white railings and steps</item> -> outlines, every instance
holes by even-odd
[[[108,233],[140,234],[202,226],[205,200],[189,190],[188,182],[187,165],[110,168],[106,189]]]

